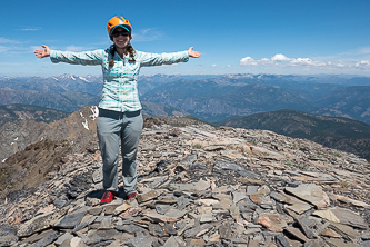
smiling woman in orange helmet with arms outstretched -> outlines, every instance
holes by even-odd
[[[173,53],[147,53],[136,51],[130,40],[131,23],[123,17],[108,21],[108,34],[113,45],[106,50],[67,52],[36,50],[38,58],[50,57],[52,62],[73,65],[100,65],[103,73],[103,89],[99,102],[97,131],[103,162],[104,194],[101,204],[109,204],[118,195],[118,157],[121,142],[123,158],[123,191],[127,199],[137,197],[137,161],[139,138],[142,130],[141,105],[137,81],[139,70],[147,66],[187,62],[189,57],[201,55],[190,47],[187,51]]]

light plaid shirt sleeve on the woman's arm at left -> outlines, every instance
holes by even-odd
[[[67,62],[71,65],[96,66],[101,65],[104,56],[104,50],[70,52],[52,50],[50,60],[54,63]]]

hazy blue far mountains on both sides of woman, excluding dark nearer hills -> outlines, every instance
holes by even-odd
[[[370,124],[370,78],[279,75],[142,76],[141,100],[167,105],[208,122],[281,109]],[[97,105],[102,78],[0,78],[0,105],[23,103],[72,112]],[[158,111],[160,107],[156,106]],[[168,110],[160,110],[168,111]],[[148,112],[153,112],[151,109]]]

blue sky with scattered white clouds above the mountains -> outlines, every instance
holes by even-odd
[[[132,46],[187,50],[188,63],[141,75],[294,73],[370,76],[369,0],[17,0],[0,8],[0,76],[100,75],[99,66],[52,65],[34,49],[107,48],[107,21],[130,20]]]

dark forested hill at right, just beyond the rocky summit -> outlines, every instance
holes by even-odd
[[[348,118],[279,110],[230,118],[218,125],[271,130],[289,137],[304,138],[326,147],[359,155],[370,161],[370,125]]]

